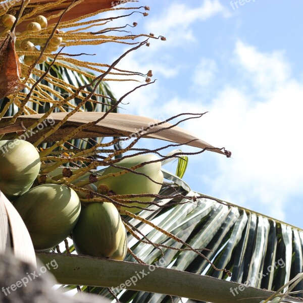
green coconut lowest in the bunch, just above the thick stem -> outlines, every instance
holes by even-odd
[[[127,237],[116,207],[112,203],[89,204],[81,211],[73,242],[80,255],[123,260]]]

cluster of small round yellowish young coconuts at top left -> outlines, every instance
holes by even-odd
[[[1,36],[5,37],[8,34],[8,31],[12,28],[13,24],[16,21],[16,17],[10,14],[3,15],[1,19],[2,25],[5,27],[5,30],[1,33]],[[24,32],[16,32],[16,36],[18,37],[16,41],[16,50],[22,52],[39,52],[37,46],[43,47],[47,41],[47,38],[41,38],[39,35],[51,34],[53,31],[52,28],[47,29],[47,19],[40,15],[35,17],[34,22],[30,22],[27,25],[26,31]],[[56,30],[55,34],[61,34],[63,31]],[[35,35],[34,38],[22,39],[22,36],[26,34]],[[44,53],[51,54],[53,52],[57,52],[60,44],[63,39],[60,36],[53,36],[51,40],[49,40],[47,47],[45,48]],[[36,62],[38,56],[28,56],[25,55],[23,58],[23,63],[27,66],[31,66]],[[46,56],[42,55],[41,59],[38,63],[43,63],[46,61]]]

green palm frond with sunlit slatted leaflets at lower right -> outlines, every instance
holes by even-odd
[[[172,181],[170,183],[172,187],[164,186],[161,194],[171,195],[176,190],[186,196],[203,197],[198,198],[196,203],[189,200],[175,200],[177,203],[187,203],[160,210],[150,207],[155,211],[142,211],[140,217],[157,223],[159,227],[178,236],[196,249],[210,249],[211,251],[201,250],[201,252],[217,268],[230,270],[232,276],[230,278],[223,271],[215,270],[207,259],[197,256],[193,251],[184,250],[186,248],[184,245],[168,238],[158,230],[150,230],[141,221],[130,219],[129,223],[151,242],[174,247],[174,249],[161,247],[166,267],[220,280],[249,283],[252,287],[272,291],[279,289],[303,271],[303,230],[191,191],[189,186],[177,176],[165,170],[164,174]],[[170,199],[164,201],[166,205],[172,202]],[[139,233],[137,235],[142,238]],[[142,243],[132,235],[129,235],[129,244],[136,257],[146,264],[157,264],[162,258],[160,247],[155,248],[153,245]],[[136,262],[131,255],[128,255],[125,261]],[[301,283],[302,281],[299,281],[294,290],[302,290]],[[203,286],[201,288],[203,289]],[[287,287],[284,291],[286,289]],[[112,297],[106,288],[94,287],[90,291]],[[243,293],[245,291],[246,288]],[[234,291],[235,298],[238,299],[243,293],[239,289],[237,292],[238,294]],[[301,297],[301,293],[296,296]],[[170,302],[171,298],[166,294],[124,290],[120,293],[119,300],[125,303],[143,301],[151,303]],[[181,302],[181,299],[174,298],[174,302],[178,301]],[[261,299],[258,302],[260,301]]]

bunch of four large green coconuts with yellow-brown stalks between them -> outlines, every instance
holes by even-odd
[[[0,150],[0,163],[4,168],[0,175],[0,190],[19,212],[36,250],[51,249],[70,236],[80,255],[122,261],[127,251],[132,254],[127,247],[127,231],[138,238],[124,218],[128,216],[153,226],[199,253],[178,237],[137,215],[150,205],[161,208],[155,198],[168,197],[159,195],[164,179],[159,157],[139,153],[103,161],[104,165],[110,166],[95,174],[89,170],[89,165],[78,169],[57,167],[42,174],[43,167],[49,165],[45,166],[42,151],[38,153],[31,143],[2,140]],[[52,165],[58,165],[54,158],[48,161],[51,159]],[[84,163],[86,160],[82,157]],[[159,248],[158,245],[155,247]]]

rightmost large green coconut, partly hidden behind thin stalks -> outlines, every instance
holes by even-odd
[[[123,159],[120,162],[118,162],[116,165],[130,168],[132,166],[144,162],[155,161],[155,160],[159,160],[159,158],[153,154],[138,155],[131,158]],[[122,170],[114,167],[109,167],[104,171],[103,175],[117,173],[120,171]],[[158,183],[163,182],[161,162],[144,165],[143,167],[136,169],[136,172],[143,173]],[[107,186],[109,190],[113,191],[116,194],[142,194],[142,193],[158,194],[161,189],[161,184],[157,184],[143,175],[137,175],[131,172],[124,175],[119,175],[116,177],[108,177],[100,180],[97,183],[98,192],[102,192],[103,190],[102,185]],[[135,197],[135,198],[130,198],[129,200],[151,202],[154,199],[155,199],[154,197]],[[128,205],[134,207],[140,206],[142,208],[146,208],[148,206],[146,204],[139,204],[139,203],[132,203]],[[121,209],[132,212],[134,214],[141,211],[141,209],[138,208],[121,207]]]

